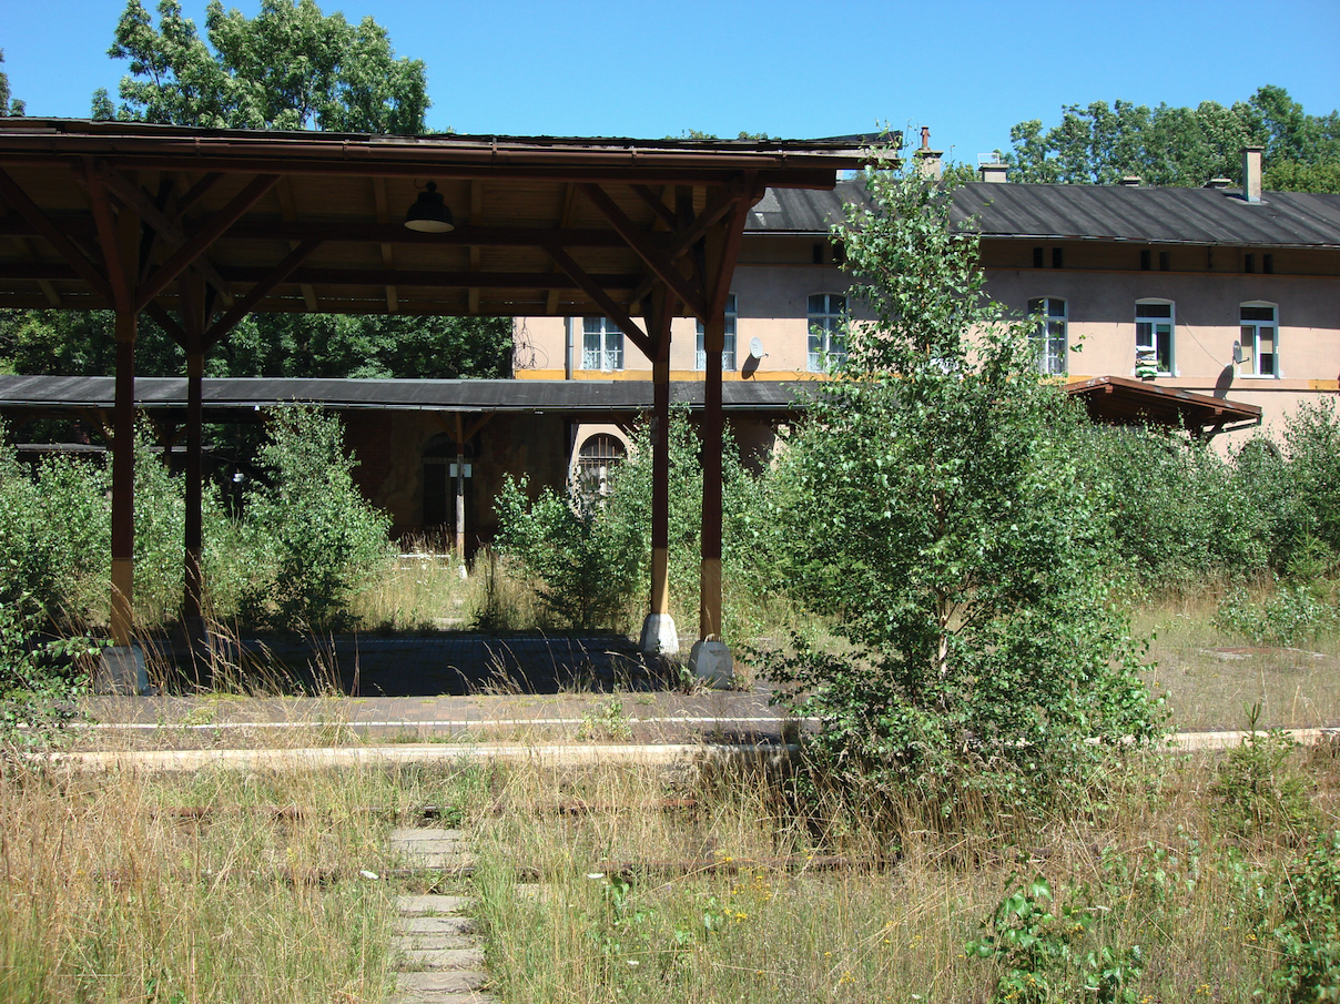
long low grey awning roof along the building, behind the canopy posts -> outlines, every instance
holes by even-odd
[[[726,412],[785,412],[803,407],[808,381],[726,381]],[[440,412],[643,412],[651,410],[651,381],[540,379],[293,379],[204,381],[209,412],[255,410],[299,402],[334,409]],[[699,381],[673,381],[670,401],[702,407]],[[107,409],[115,401],[113,377],[0,377],[0,409]],[[185,377],[141,377],[135,406],[186,406]]]

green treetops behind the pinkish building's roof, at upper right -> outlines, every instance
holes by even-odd
[[[1311,115],[1273,84],[1231,107],[1067,105],[1057,125],[1020,122],[1010,142],[1005,161],[1016,181],[1112,185],[1134,174],[1147,185],[1241,184],[1241,150],[1250,145],[1264,147],[1268,189],[1340,192],[1340,113]]]

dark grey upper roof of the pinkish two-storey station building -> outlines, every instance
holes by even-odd
[[[1340,196],[1237,189],[970,182],[954,190],[951,220],[984,237],[1140,244],[1340,248]],[[870,206],[860,178],[831,192],[769,189],[746,233],[827,235],[847,205]]]

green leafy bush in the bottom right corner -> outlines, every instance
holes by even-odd
[[[1340,832],[1319,836],[1289,873],[1274,945],[1274,985],[1289,1004],[1340,1000]]]

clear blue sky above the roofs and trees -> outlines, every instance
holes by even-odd
[[[150,0],[153,5],[155,0]],[[245,13],[259,0],[239,4]],[[114,95],[107,58],[123,0],[0,0],[0,48],[29,115],[87,117]],[[205,4],[184,3],[204,25]],[[955,160],[1008,147],[1061,105],[1229,105],[1286,87],[1313,114],[1340,106],[1340,3],[1130,0],[348,0],[397,54],[423,59],[429,125],[458,133],[808,138],[931,127]]]

